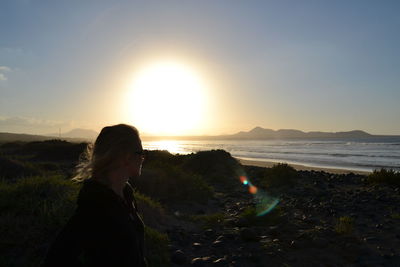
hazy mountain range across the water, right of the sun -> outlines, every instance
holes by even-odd
[[[222,136],[221,136],[222,137]],[[255,127],[248,132],[239,132],[232,135],[224,135],[227,139],[297,139],[297,138],[368,138],[373,135],[361,130],[349,132],[303,132],[293,129],[271,130]]]

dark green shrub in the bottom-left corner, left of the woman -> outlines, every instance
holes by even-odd
[[[62,177],[0,183],[1,264],[38,266],[59,229],[72,215],[78,186]]]

